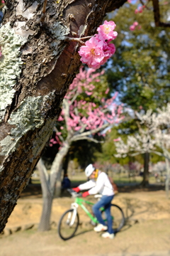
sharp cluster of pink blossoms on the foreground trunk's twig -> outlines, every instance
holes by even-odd
[[[97,69],[115,53],[115,45],[110,43],[118,36],[114,31],[115,26],[113,21],[104,21],[97,29],[98,34],[86,41],[85,46],[81,46],[79,55],[82,63],[86,63],[89,68]]]

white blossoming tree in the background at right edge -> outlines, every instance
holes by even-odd
[[[115,139],[115,148],[118,154],[115,157],[125,157],[127,154],[154,153],[163,156],[166,161],[166,193],[169,194],[169,161],[170,161],[170,104],[158,110],[158,113],[148,110],[146,114],[136,113],[139,120],[139,132],[128,136],[127,142],[121,138]],[[159,151],[158,149],[161,149]],[[149,161],[148,161],[149,164]],[[149,169],[149,168],[148,168]],[[144,173],[145,184],[149,181],[149,172]]]

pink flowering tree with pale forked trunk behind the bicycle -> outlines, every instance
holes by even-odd
[[[95,87],[101,90],[97,92]],[[112,127],[123,119],[123,107],[115,103],[117,94],[108,98],[108,91],[103,71],[94,73],[93,69],[83,70],[81,68],[64,97],[62,112],[55,127],[55,138],[50,140],[50,146],[60,144],[60,149],[52,162],[50,174],[47,174],[42,160],[38,163],[42,193],[50,192],[48,200],[44,200],[40,230],[49,229],[52,198],[56,183],[57,189],[60,189],[62,161],[72,142],[85,139],[98,143],[99,141],[94,138],[95,134],[103,136],[103,131],[107,127]]]

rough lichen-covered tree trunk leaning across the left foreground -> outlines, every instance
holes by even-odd
[[[6,0],[0,28],[0,232],[79,70],[78,43],[125,0]],[[45,13],[45,14],[44,14]]]

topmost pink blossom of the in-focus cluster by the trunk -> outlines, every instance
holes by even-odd
[[[104,21],[103,25],[99,26],[97,29],[98,31],[98,38],[105,41],[105,40],[113,40],[118,36],[118,33],[114,31],[115,29],[114,21]]]

